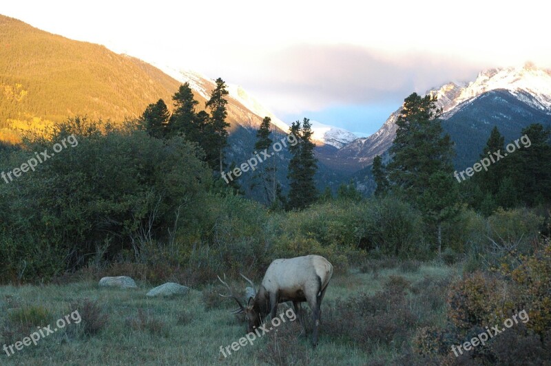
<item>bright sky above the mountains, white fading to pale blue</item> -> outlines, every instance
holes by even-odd
[[[544,4],[542,7],[541,4]],[[26,1],[0,14],[238,84],[285,122],[368,135],[412,92],[551,67],[551,6],[502,1]]]

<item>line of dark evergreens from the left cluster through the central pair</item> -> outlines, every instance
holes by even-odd
[[[145,131],[153,138],[170,139],[174,136],[181,136],[196,144],[200,149],[202,159],[207,162],[209,168],[216,177],[218,186],[222,185],[222,174],[235,167],[235,162],[227,162],[225,149],[228,142],[228,131],[230,127],[227,122],[227,85],[221,78],[216,79],[216,87],[205,107],[208,111],[196,111],[199,104],[194,98],[194,93],[189,83],[180,85],[178,92],[172,96],[174,111],[170,114],[163,99],[147,106],[139,123]],[[315,145],[311,141],[312,130],[308,118],[293,122],[289,129],[297,139],[297,143],[289,145],[291,160],[289,161],[287,177],[289,178],[290,189],[287,196],[282,194],[282,185],[278,182],[277,160],[260,164],[258,171],[253,175],[251,189],[260,189],[264,202],[272,208],[302,209],[318,200],[318,193],[315,186],[314,175],[318,169],[317,160],[314,155]],[[271,118],[264,117],[256,133],[254,152],[264,151],[273,145],[273,134]],[[233,191],[241,193],[238,180],[229,181]]]

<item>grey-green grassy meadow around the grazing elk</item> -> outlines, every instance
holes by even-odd
[[[369,267],[369,266],[368,266]],[[96,334],[85,333],[85,322],[90,310],[79,310],[83,321],[68,325],[59,332],[41,338],[37,345],[28,345],[12,356],[2,352],[3,365],[235,365],[309,364],[309,365],[363,365],[393,364],[410,337],[398,342],[370,338],[369,346],[357,342],[342,332],[335,335],[335,322],[342,321],[340,304],[349,297],[380,292],[389,281],[405,283],[406,307],[413,313],[415,325],[440,323],[445,320],[445,293],[433,294],[433,309],[427,308],[430,297],[426,283],[453,279],[458,276],[455,267],[439,263],[424,263],[413,268],[390,263],[379,268],[354,268],[347,275],[335,275],[329,283],[322,305],[322,327],[317,349],[310,345],[310,337],[299,335],[298,321],[285,323],[277,332],[247,343],[225,358],[220,345],[227,346],[244,336],[244,325],[228,313],[233,303],[220,298],[220,305],[207,310],[202,291],[192,289],[185,297],[150,299],[145,293],[151,286],[138,283],[137,290],[98,288],[96,281],[80,281],[67,285],[6,286],[0,288],[2,345],[17,341],[34,332],[37,326],[56,327],[57,319],[73,312],[76,303],[83,306],[85,299],[96,301],[107,316],[102,325],[96,316]],[[404,281],[405,279],[405,281]],[[234,281],[238,283],[238,281]],[[213,294],[216,285],[202,289]],[[245,285],[243,285],[245,286]],[[434,292],[434,291],[433,291]],[[212,299],[213,297],[211,297]],[[441,301],[439,301],[441,299]],[[389,300],[390,301],[390,300]],[[436,301],[436,303],[434,303]],[[212,304],[211,304],[212,305]],[[216,304],[215,304],[216,305]],[[380,304],[382,309],[391,303]],[[24,312],[23,310],[33,310]],[[15,314],[28,315],[27,327],[17,323]],[[28,319],[32,318],[32,319]],[[88,318],[88,319],[87,319]],[[15,319],[15,320],[14,320]],[[34,320],[33,320],[34,319]],[[363,319],[368,326],[369,319]],[[41,323],[44,322],[44,323]],[[32,324],[34,323],[34,324]],[[18,327],[21,325],[21,327]],[[363,326],[363,325],[362,325]],[[17,330],[14,330],[14,327]],[[92,325],[92,328],[94,325]],[[415,332],[415,329],[410,329]],[[27,333],[25,333],[27,332]],[[310,335],[310,334],[309,334]],[[9,345],[9,343],[8,343]]]

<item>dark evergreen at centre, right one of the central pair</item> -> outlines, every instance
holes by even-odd
[[[289,145],[291,161],[289,162],[289,199],[287,208],[306,208],[315,202],[318,192],[315,189],[314,175],[318,166],[314,156],[315,145],[311,141],[312,129],[310,120],[304,118],[291,124],[291,133],[297,138],[295,145]]]

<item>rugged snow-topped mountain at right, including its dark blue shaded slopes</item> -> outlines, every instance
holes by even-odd
[[[506,140],[512,140],[526,125],[548,124],[551,118],[551,71],[530,63],[489,69],[470,83],[446,83],[427,94],[436,95],[437,105],[442,108],[442,125],[456,143],[456,166],[477,159],[495,125]],[[360,170],[370,165],[375,155],[388,151],[396,135],[400,109],[373,135],[340,149],[335,160]]]

